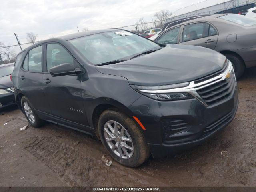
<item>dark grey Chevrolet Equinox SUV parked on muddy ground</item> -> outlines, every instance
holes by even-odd
[[[117,42],[116,42],[117,41]],[[234,118],[232,63],[198,46],[164,45],[118,29],[44,40],[17,56],[19,108],[96,135],[125,166],[195,146]]]

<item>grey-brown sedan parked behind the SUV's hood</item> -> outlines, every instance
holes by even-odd
[[[215,14],[179,23],[155,39],[164,44],[203,46],[224,54],[236,77],[256,66],[256,19],[238,14]]]

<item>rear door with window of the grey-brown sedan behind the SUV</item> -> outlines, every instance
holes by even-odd
[[[215,49],[218,32],[214,26],[206,22],[184,25],[181,44],[196,45]]]

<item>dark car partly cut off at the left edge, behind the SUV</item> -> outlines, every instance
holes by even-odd
[[[10,78],[13,67],[14,63],[0,65],[0,110],[16,104]]]

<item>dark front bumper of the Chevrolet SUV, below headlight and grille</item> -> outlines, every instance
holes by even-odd
[[[202,143],[226,127],[238,108],[238,88],[211,106],[196,99],[160,102],[142,96],[130,110],[142,122],[142,130],[154,158],[175,154]]]

